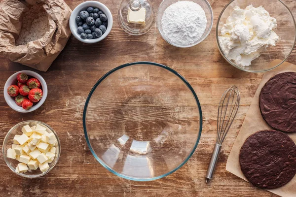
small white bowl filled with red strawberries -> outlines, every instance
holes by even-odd
[[[22,70],[7,79],[3,92],[5,101],[13,110],[28,113],[44,103],[47,85],[38,73]]]

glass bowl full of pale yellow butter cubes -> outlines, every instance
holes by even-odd
[[[37,178],[57,164],[61,147],[56,132],[48,125],[24,121],[7,132],[2,152],[13,172],[26,178]]]

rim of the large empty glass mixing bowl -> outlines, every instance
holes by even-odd
[[[146,64],[146,65],[152,65],[152,66],[158,66],[158,67],[162,67],[170,72],[172,72],[173,74],[175,74],[177,77],[179,77],[184,83],[185,85],[187,86],[187,88],[191,91],[195,101],[196,101],[196,104],[197,104],[197,107],[198,107],[198,110],[199,110],[199,134],[198,134],[198,137],[197,137],[197,140],[194,144],[194,147],[191,151],[191,153],[188,155],[188,157],[184,160],[184,162],[182,162],[181,164],[179,164],[176,168],[174,168],[173,170],[163,174],[163,175],[160,175],[160,176],[157,176],[157,177],[153,177],[153,178],[145,178],[145,179],[141,179],[141,178],[133,178],[133,177],[129,177],[129,176],[125,176],[125,175],[122,175],[118,172],[116,172],[115,170],[111,169],[111,167],[109,167],[109,165],[105,164],[98,156],[97,154],[95,153],[95,151],[93,150],[91,144],[90,144],[90,141],[88,139],[88,135],[87,135],[87,131],[86,131],[86,112],[87,112],[87,107],[88,107],[88,103],[93,95],[93,93],[95,92],[96,88],[101,84],[101,82],[104,81],[104,79],[106,79],[109,75],[111,75],[113,72],[121,69],[121,68],[124,68],[124,67],[128,67],[128,66],[134,66],[134,65],[143,65],[143,64]],[[87,143],[87,146],[89,148],[89,150],[91,151],[91,153],[93,154],[93,156],[95,157],[95,159],[101,164],[103,165],[106,169],[108,169],[109,171],[111,171],[113,174],[121,177],[121,178],[125,178],[125,179],[128,179],[128,180],[132,180],[132,181],[153,181],[153,180],[156,180],[156,179],[160,179],[160,178],[163,178],[173,172],[175,172],[176,170],[178,170],[179,168],[181,168],[189,159],[190,157],[193,155],[193,153],[195,152],[195,149],[197,148],[197,145],[199,143],[199,140],[200,140],[200,136],[201,136],[201,131],[202,131],[202,111],[201,111],[201,105],[200,105],[200,102],[197,98],[197,95],[195,93],[195,91],[193,90],[192,86],[189,84],[189,82],[181,75],[179,74],[177,71],[175,71],[174,69],[168,67],[168,66],[164,66],[164,65],[161,65],[161,64],[158,64],[158,63],[153,63],[153,62],[133,62],[133,63],[128,63],[128,64],[124,64],[124,65],[121,65],[121,66],[118,66],[118,67],[115,67],[113,69],[111,69],[109,72],[107,72],[105,75],[103,75],[98,81],[97,83],[94,85],[94,87],[91,89],[89,95],[87,96],[87,99],[85,101],[85,105],[84,105],[84,109],[83,109],[83,131],[84,131],[84,135],[85,135],[85,140],[86,140],[86,143]]]

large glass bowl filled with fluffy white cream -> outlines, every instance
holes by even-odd
[[[231,0],[216,28],[224,59],[241,70],[265,72],[280,66],[292,53],[296,25],[281,0]]]

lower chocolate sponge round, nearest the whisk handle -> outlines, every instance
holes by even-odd
[[[239,163],[246,178],[255,186],[278,188],[296,174],[296,145],[281,131],[258,131],[241,147]]]

